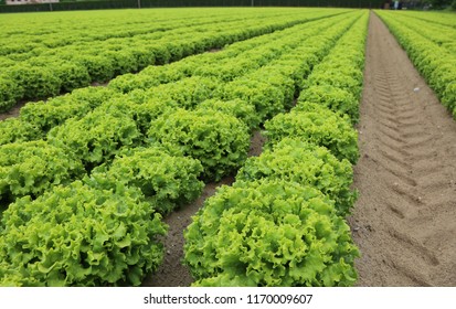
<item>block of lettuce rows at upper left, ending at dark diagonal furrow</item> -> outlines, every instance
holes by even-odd
[[[0,21],[0,111],[23,99],[105,83],[340,12],[188,9],[7,15]]]

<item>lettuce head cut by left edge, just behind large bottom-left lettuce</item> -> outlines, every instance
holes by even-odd
[[[42,140],[0,146],[0,201],[36,196],[82,172],[81,161]]]

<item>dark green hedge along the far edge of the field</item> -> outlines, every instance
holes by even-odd
[[[0,0],[0,3],[2,0]],[[176,7],[340,7],[380,8],[383,0],[140,0],[141,8]],[[138,0],[75,1],[28,6],[0,6],[0,13],[138,8]]]

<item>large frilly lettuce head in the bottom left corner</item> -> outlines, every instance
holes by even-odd
[[[2,216],[0,286],[138,286],[163,257],[166,225],[139,190],[76,181]]]

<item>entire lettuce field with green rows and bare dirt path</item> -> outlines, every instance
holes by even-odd
[[[1,21],[0,286],[456,285],[450,18],[136,12]]]

